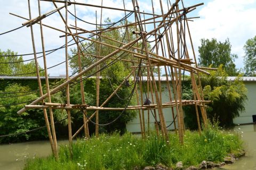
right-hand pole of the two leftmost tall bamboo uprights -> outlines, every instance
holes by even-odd
[[[41,16],[40,0],[38,0],[38,12],[39,12],[39,16]],[[40,31],[41,31],[42,52],[43,52],[43,59],[44,59],[44,72],[45,72],[47,97],[48,97],[49,103],[51,103],[50,87],[49,87],[49,80],[48,80],[48,73],[47,73],[47,63],[46,63],[45,48],[44,48],[44,35],[43,35],[42,20],[40,20]],[[58,160],[59,154],[58,154],[57,138],[56,138],[55,127],[54,127],[52,107],[49,107],[49,112],[50,112],[51,128],[52,128],[52,135],[53,135],[53,145],[54,145],[54,152],[55,152],[54,156],[55,156],[55,160]]]

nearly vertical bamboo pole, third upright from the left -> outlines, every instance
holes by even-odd
[[[66,24],[65,24],[65,55],[66,55],[66,80],[68,81],[68,1],[66,0],[65,3],[66,9]],[[70,106],[70,98],[69,98],[69,84],[66,86],[66,99],[67,99],[67,106]],[[70,110],[67,109],[68,113],[68,140],[69,140],[69,152],[71,157],[73,157],[72,151],[72,129],[71,129],[71,113]]]

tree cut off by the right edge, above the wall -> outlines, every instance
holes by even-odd
[[[244,45],[244,70],[247,76],[256,76],[256,36]]]

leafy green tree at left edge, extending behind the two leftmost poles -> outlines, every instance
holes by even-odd
[[[30,90],[28,86],[21,86],[21,84],[18,83],[11,83],[6,86],[3,91],[0,90],[0,135],[26,132],[45,126],[42,109],[29,109],[21,115],[17,114],[17,111],[26,104],[24,102],[30,102],[39,97],[39,94],[36,92],[27,93],[27,91]],[[19,94],[12,94],[12,92],[19,92]],[[47,101],[47,99],[45,101]],[[52,102],[65,103],[61,92],[52,95]],[[53,115],[55,122],[61,121],[67,117],[66,111],[60,109],[55,109]],[[63,126],[67,125],[67,120],[61,121],[59,124],[61,124],[60,126],[63,128]],[[35,132],[0,138],[0,143],[40,140],[46,139],[47,136],[46,128],[43,128]]]

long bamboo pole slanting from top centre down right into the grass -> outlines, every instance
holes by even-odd
[[[138,8],[138,11],[135,10],[136,6],[139,6],[138,1],[135,0],[136,5],[135,5],[134,0],[132,2],[133,2],[135,16],[137,17],[137,20],[141,23],[140,10],[139,10],[139,8]],[[141,24],[139,24],[139,28],[140,28],[140,31],[143,32],[143,27],[142,27]],[[149,60],[149,53],[148,53],[148,49],[147,49],[147,43],[145,41],[145,37],[144,37],[143,33],[141,33],[141,38],[142,38],[143,45],[145,47],[145,52],[146,52],[148,64],[149,64],[149,67],[150,67],[151,77],[152,77],[152,80],[153,80],[156,102],[157,102],[157,106],[158,106],[158,114],[159,114],[159,117],[162,117],[161,126],[163,126],[163,130],[164,130],[162,133],[165,136],[166,141],[169,143],[169,136],[168,136],[168,132],[167,132],[167,129],[166,129],[166,124],[165,124],[164,117],[163,117],[162,102],[159,100],[156,81],[155,81],[155,78],[154,78],[153,67],[151,66],[151,61]]]

